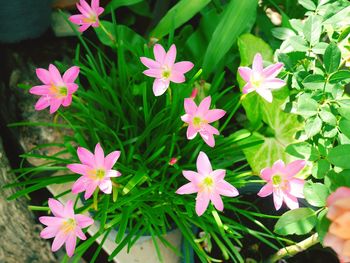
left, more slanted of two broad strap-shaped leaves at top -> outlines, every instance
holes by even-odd
[[[194,15],[201,11],[210,0],[181,0],[173,6],[160,20],[150,34],[152,37],[162,38],[177,29]]]

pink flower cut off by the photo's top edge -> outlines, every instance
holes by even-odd
[[[92,0],[91,6],[89,6],[85,0],[80,0],[80,4],[77,3],[77,8],[81,15],[73,15],[69,17],[69,21],[79,25],[80,32],[84,32],[90,26],[99,26],[98,16],[104,11],[104,9],[100,7],[100,0]]]

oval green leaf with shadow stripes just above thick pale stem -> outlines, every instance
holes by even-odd
[[[305,235],[316,225],[317,217],[310,208],[298,208],[284,213],[275,225],[279,235]]]

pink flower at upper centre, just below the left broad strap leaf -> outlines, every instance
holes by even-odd
[[[193,68],[193,63],[181,61],[175,63],[176,46],[171,45],[168,52],[164,48],[155,44],[153,48],[155,61],[146,57],[141,57],[141,62],[147,70],[143,72],[146,76],[155,78],[153,82],[153,93],[155,96],[162,95],[169,87],[170,81],[174,83],[185,82],[184,74]]]

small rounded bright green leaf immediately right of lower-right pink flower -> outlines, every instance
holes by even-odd
[[[312,206],[325,206],[328,194],[328,188],[324,184],[307,182],[304,186],[305,199]]]

